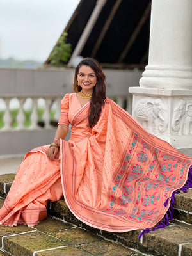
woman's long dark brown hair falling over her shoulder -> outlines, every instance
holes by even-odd
[[[102,71],[99,62],[93,58],[84,58],[76,67],[74,76],[74,92],[80,92],[81,86],[78,85],[77,74],[81,66],[89,66],[95,72],[97,83],[93,87],[93,95],[90,100],[90,112],[88,116],[89,127],[92,128],[99,120],[102,105],[106,101],[106,76]]]

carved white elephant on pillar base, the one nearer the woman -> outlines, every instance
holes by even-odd
[[[166,131],[168,123],[163,100],[156,98],[141,99],[138,101],[135,116],[148,132],[154,134]]]

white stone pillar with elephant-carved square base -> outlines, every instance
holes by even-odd
[[[175,148],[192,148],[192,1],[152,0],[148,65],[133,116]]]

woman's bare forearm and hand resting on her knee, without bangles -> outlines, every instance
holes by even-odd
[[[58,146],[51,145],[51,147],[47,151],[47,156],[49,159],[54,160],[59,146],[60,146],[60,139],[64,140],[67,136],[68,127],[65,125],[58,125],[58,129],[56,131],[55,137],[54,137],[54,143],[56,143]]]

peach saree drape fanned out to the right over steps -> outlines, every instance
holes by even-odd
[[[74,128],[85,111],[77,113]],[[166,214],[173,191],[186,183],[191,166],[191,157],[149,134],[109,99],[89,138],[61,141],[60,159],[70,211],[111,232],[154,227]]]

